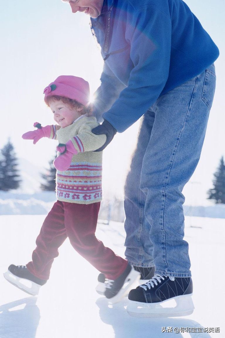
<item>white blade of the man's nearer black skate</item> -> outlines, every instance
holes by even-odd
[[[170,300],[175,300],[176,306],[163,307],[161,304]],[[134,300],[129,300],[126,308],[128,314],[132,317],[143,318],[162,318],[162,317],[182,317],[191,315],[194,311],[192,294],[181,295],[166,299],[160,303],[140,303]]]

